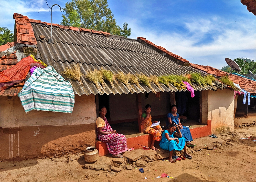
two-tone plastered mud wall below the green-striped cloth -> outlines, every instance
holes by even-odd
[[[58,157],[95,146],[94,95],[75,95],[73,113],[30,111],[18,97],[0,97],[0,161]]]

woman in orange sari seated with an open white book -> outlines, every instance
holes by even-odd
[[[160,125],[155,126],[153,128],[150,127],[152,125],[152,117],[150,115],[150,112],[151,106],[147,104],[145,107],[145,112],[141,115],[141,124],[144,125],[144,133],[153,135],[153,140],[150,148],[152,150],[158,150],[157,148],[155,148],[154,144],[155,141],[161,140],[162,128]],[[153,121],[153,123],[157,123],[157,121]]]

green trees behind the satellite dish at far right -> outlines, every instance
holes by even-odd
[[[242,66],[243,67],[241,68],[240,72],[233,70],[232,71],[233,73],[250,74],[250,72],[249,72],[249,70],[250,70],[253,74],[256,74],[256,62],[254,60],[244,59],[244,58],[236,58],[236,59],[234,59],[234,61],[239,65],[240,68]],[[246,61],[246,62],[244,62],[244,61]],[[225,67],[222,67],[220,70],[230,72],[230,69],[231,68],[229,66],[225,66]]]

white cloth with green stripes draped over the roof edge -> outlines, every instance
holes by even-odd
[[[75,96],[72,85],[52,66],[36,68],[18,94],[25,111],[72,113]]]

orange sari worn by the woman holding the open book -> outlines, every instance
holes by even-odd
[[[143,113],[142,114],[142,118],[146,118],[147,116],[145,116],[146,114]],[[153,140],[156,140],[156,141],[160,141],[162,139],[162,136],[161,136],[161,131],[162,131],[162,128],[160,125],[158,126],[155,126],[153,128],[151,128],[150,126],[152,125],[152,117],[150,115],[150,117],[144,122],[144,133],[146,134],[151,134],[153,136]]]

